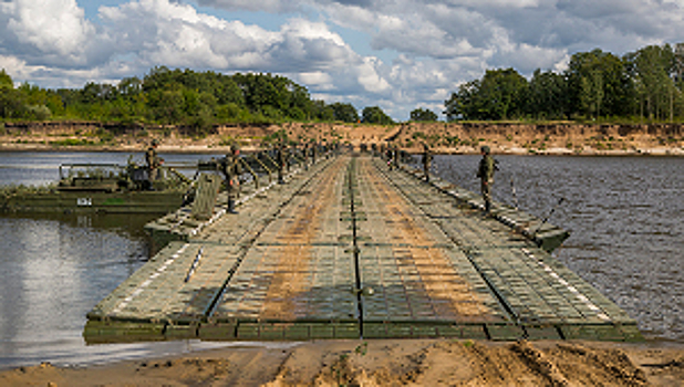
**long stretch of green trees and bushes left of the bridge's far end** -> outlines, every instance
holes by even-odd
[[[220,123],[344,122],[392,124],[379,106],[361,114],[349,103],[314,100],[307,87],[272,74],[154,67],[143,79],[83,88],[14,87],[0,71],[0,115],[4,119],[86,119],[186,125],[199,130]]]

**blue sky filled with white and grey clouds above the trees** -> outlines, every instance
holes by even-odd
[[[684,0],[0,0],[0,69],[49,88],[154,66],[272,73],[395,121],[486,70],[684,42]]]

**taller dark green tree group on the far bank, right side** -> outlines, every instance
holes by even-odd
[[[562,73],[488,70],[445,101],[447,121],[684,118],[684,43],[623,56],[599,49],[572,55]]]

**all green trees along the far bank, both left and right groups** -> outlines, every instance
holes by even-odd
[[[650,45],[616,56],[599,49],[572,55],[563,72],[487,70],[460,84],[444,103],[453,121],[683,122],[684,43]],[[198,132],[215,124],[343,122],[393,124],[380,106],[313,100],[305,86],[272,74],[154,67],[143,79],[83,88],[15,86],[0,70],[2,121],[81,119],[183,125]],[[436,122],[416,107],[410,121]]]

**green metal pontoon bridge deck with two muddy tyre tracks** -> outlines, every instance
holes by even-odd
[[[473,200],[371,157],[320,161],[242,200],[239,215],[184,231],[95,306],[85,336],[640,337],[622,310],[506,224],[533,220],[502,207],[484,217]]]

